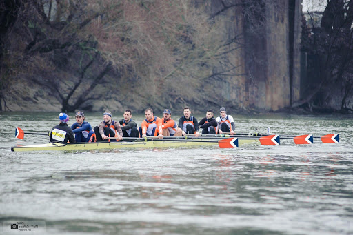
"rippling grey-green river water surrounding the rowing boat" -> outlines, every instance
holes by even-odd
[[[41,234],[353,234],[352,116],[234,118],[238,132],[339,133],[341,143],[10,152],[48,141],[15,139],[16,126],[48,132],[58,114],[2,113],[0,234],[19,221],[45,223]]]

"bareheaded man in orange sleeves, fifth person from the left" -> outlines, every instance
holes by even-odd
[[[157,116],[153,116],[152,108],[145,110],[146,119],[141,123],[139,127],[141,137],[145,136],[158,136],[163,138],[162,130],[162,119]]]

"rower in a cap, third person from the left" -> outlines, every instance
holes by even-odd
[[[94,127],[94,134],[98,142],[110,141],[108,137],[117,137],[118,141],[123,139],[121,125],[119,122],[112,120],[112,113],[108,110],[103,113],[103,121],[97,127]]]

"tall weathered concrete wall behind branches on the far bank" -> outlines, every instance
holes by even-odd
[[[219,0],[205,1],[205,4],[210,4],[206,10],[211,15],[223,7]],[[290,4],[295,8],[292,45],[289,33]],[[228,39],[244,35],[239,41],[243,46],[223,58],[223,61],[239,66],[237,74],[241,74],[221,79],[219,89],[223,91],[221,96],[224,103],[231,105],[233,102],[234,108],[265,112],[289,107],[291,96],[292,101],[300,99],[301,0],[266,2],[263,9],[266,15],[265,34],[262,36],[245,34],[247,26],[241,10],[229,8],[214,18],[216,28]],[[249,53],[252,53],[252,59],[256,58],[256,61],[249,61]]]

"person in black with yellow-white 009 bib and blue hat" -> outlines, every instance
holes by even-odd
[[[59,114],[59,125],[52,128],[49,133],[50,141],[56,141],[60,143],[74,143],[74,132],[68,127],[69,116],[65,113]]]

